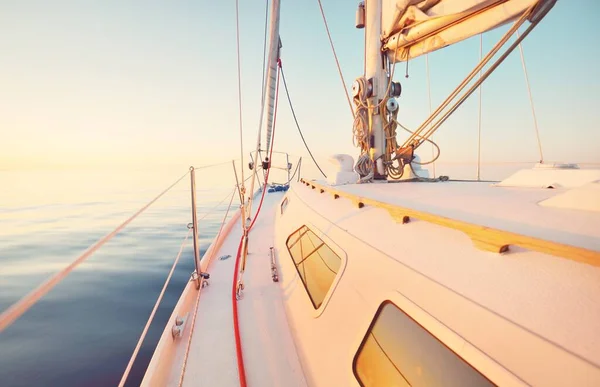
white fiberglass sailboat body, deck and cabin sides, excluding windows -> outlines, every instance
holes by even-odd
[[[436,201],[438,184],[445,186],[439,192],[445,192],[446,199],[438,197]],[[456,201],[458,196],[449,194],[451,184],[463,184],[463,192],[471,194]],[[486,186],[498,192],[490,197],[482,193],[482,187],[483,183],[402,183],[341,188],[362,190],[380,199],[382,192],[387,192],[397,205],[411,203],[418,210],[454,214],[462,221],[496,219],[491,226],[506,231],[515,231],[520,225],[534,234],[528,237],[558,236],[552,227],[564,226],[562,242],[600,255],[600,227],[592,227],[600,224],[598,213],[538,206],[540,212],[534,219],[545,226],[536,226],[535,220],[527,225],[523,206],[536,206],[534,198],[558,195],[559,190]],[[381,192],[374,193],[378,190]],[[461,230],[419,220],[402,224],[384,209],[358,208],[357,202],[343,197],[336,200],[323,191],[294,184],[283,199],[283,215],[283,195],[268,194],[250,234],[244,297],[237,301],[249,385],[358,386],[353,362],[385,301],[391,301],[495,384],[600,385],[598,266],[514,246],[508,254],[485,251]],[[512,223],[507,221],[513,213],[510,195],[502,192],[513,199],[520,194],[529,198],[520,204],[521,213],[514,214]],[[427,204],[428,200],[437,203],[437,208]],[[490,201],[506,210],[490,207]],[[488,213],[484,211],[486,202]],[[461,206],[463,210],[458,211]],[[542,215],[545,218],[539,217]],[[553,216],[560,216],[561,221],[552,223]],[[502,217],[505,219],[498,221]],[[317,309],[286,246],[288,237],[303,225],[342,260]],[[239,220],[230,222],[231,231],[214,250],[214,257],[230,254],[232,258],[213,258],[207,268],[211,285],[200,297],[185,385],[239,385],[231,320],[239,227]],[[279,283],[270,277],[270,246],[276,251]],[[174,316],[191,310],[195,301],[192,289],[192,285],[186,288]],[[144,385],[178,385],[191,326],[174,340],[172,320],[174,317]]]

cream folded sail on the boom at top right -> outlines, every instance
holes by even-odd
[[[406,61],[518,19],[529,20],[556,0],[383,0],[383,49]]]

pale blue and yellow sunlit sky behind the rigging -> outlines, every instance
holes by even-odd
[[[240,3],[247,153],[260,113],[265,3]],[[356,3],[323,0],[348,87],[363,69]],[[597,1],[558,1],[523,45],[547,160],[600,161],[599,16]],[[484,35],[484,49],[505,29]],[[280,33],[292,99],[317,159],[356,155],[317,1],[283,0]],[[3,1],[0,52],[0,169],[239,157],[234,0]],[[434,105],[478,58],[478,37],[430,55]],[[410,62],[408,79],[404,71],[402,64],[395,76],[403,83],[399,119],[416,127],[429,111],[424,57]],[[305,156],[281,97],[275,147]],[[440,161],[476,160],[474,97],[436,133]],[[484,84],[482,153],[484,162],[538,159],[518,52]]]

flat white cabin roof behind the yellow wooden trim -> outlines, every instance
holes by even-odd
[[[600,212],[538,205],[566,189],[495,187],[488,182],[459,181],[335,188],[454,220],[600,251]]]

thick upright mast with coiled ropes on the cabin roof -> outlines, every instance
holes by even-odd
[[[385,179],[383,168],[377,168],[376,160],[385,152],[385,134],[381,109],[378,108],[385,98],[387,74],[383,66],[381,52],[381,0],[365,0],[365,78],[371,80],[372,94],[368,98],[371,160],[374,162],[375,179]],[[382,165],[382,164],[381,164]]]

